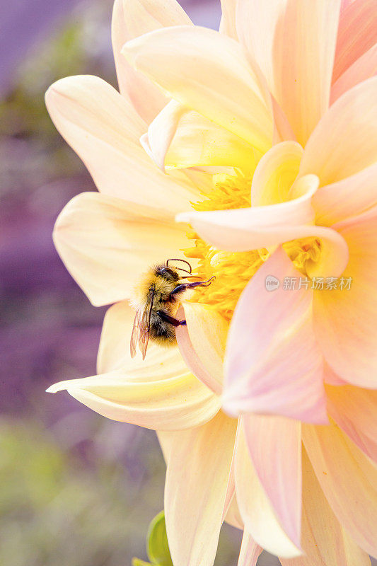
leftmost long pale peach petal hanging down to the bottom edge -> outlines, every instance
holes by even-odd
[[[219,412],[175,434],[165,485],[166,531],[175,566],[212,566],[223,521],[237,421]]]

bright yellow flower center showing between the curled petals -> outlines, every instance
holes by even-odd
[[[217,174],[213,177],[214,188],[203,200],[192,203],[197,211],[228,210],[251,206],[252,178],[236,170],[235,175]],[[214,308],[227,320],[231,320],[239,296],[251,277],[269,258],[269,250],[262,248],[247,252],[226,252],[209,246],[195,231],[187,233],[193,246],[183,250],[187,258],[199,260],[195,275],[203,279],[215,276],[208,287],[200,287],[192,300]],[[284,243],[284,249],[296,268],[306,275],[309,261],[317,261],[320,241],[303,238]]]

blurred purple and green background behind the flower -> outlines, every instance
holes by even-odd
[[[219,1],[182,0],[218,28]],[[55,381],[95,374],[105,309],[94,308],[52,245],[64,204],[93,190],[43,100],[71,74],[116,86],[112,0],[1,2],[0,21],[0,564],[130,566],[146,560],[163,508],[165,465],[153,432],[106,420]],[[225,526],[218,566],[236,566]],[[258,565],[277,561],[262,555]]]

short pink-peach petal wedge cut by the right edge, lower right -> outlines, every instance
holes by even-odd
[[[377,462],[377,391],[326,386],[327,410],[359,449]]]

